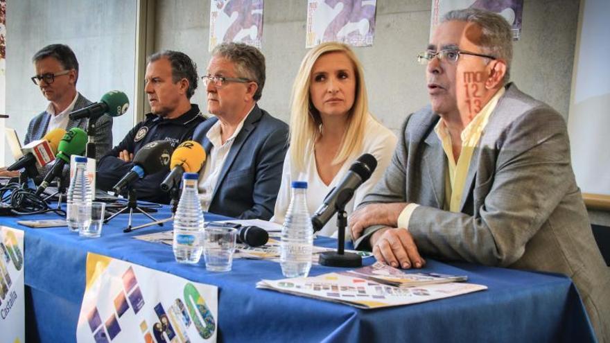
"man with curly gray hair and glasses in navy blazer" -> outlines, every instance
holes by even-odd
[[[220,44],[202,80],[208,112],[216,116],[193,134],[207,153],[199,177],[202,208],[269,220],[281,183],[288,125],[256,105],[265,85],[265,58],[253,46]]]

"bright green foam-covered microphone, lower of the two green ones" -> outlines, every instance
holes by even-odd
[[[55,156],[55,164],[53,168],[46,173],[40,186],[36,189],[36,195],[41,195],[42,192],[49,186],[55,177],[61,177],[64,166],[70,163],[72,155],[85,154],[85,145],[87,144],[87,133],[79,127],[72,127],[64,134],[58,144],[58,153]]]

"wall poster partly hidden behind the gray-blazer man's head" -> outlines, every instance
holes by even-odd
[[[433,0],[432,17],[430,18],[430,35],[439,22],[452,10],[463,8],[480,8],[496,12],[512,26],[512,38],[519,40],[521,37],[521,18],[523,17],[523,0]]]

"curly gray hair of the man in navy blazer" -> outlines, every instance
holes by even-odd
[[[254,100],[259,100],[263,96],[265,56],[259,49],[243,43],[223,43],[214,48],[211,56],[220,56],[233,62],[238,77],[252,80],[259,86],[254,93]]]

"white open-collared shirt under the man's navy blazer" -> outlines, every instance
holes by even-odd
[[[239,125],[237,125],[235,132],[233,132],[231,137],[229,137],[224,144],[220,132],[220,121],[214,123],[206,134],[206,137],[209,139],[212,147],[203,166],[203,173],[200,173],[199,175],[199,201],[201,202],[201,209],[203,211],[208,211],[209,209],[212,195],[214,195],[214,190],[216,189],[216,184],[218,183],[218,177],[220,177],[220,170],[223,170],[223,166],[225,165],[227,155],[229,155],[229,151],[233,146],[235,137],[237,137],[241,131],[245,119],[250,116],[254,106],[252,106],[250,112],[243,117]]]

